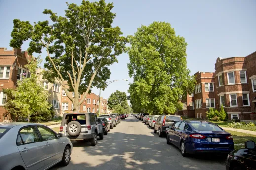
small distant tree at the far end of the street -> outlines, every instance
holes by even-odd
[[[116,90],[114,93],[111,93],[110,97],[108,98],[107,105],[110,109],[113,109],[115,106],[122,104],[123,101],[126,101],[126,100],[127,100],[126,93]],[[126,103],[127,103],[127,101],[126,101]],[[127,105],[128,105],[128,103],[127,103]]]

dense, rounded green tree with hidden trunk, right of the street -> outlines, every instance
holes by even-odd
[[[195,79],[186,62],[185,38],[176,36],[169,23],[153,22],[129,36],[129,76],[134,79],[129,93],[138,112],[174,113],[180,100],[192,93]]]

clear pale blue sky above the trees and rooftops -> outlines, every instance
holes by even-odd
[[[0,0],[0,47],[9,47],[12,20],[42,21],[46,8],[64,15],[65,2],[80,4],[82,0]],[[188,43],[187,66],[191,74],[213,72],[217,57],[244,57],[256,51],[256,0],[106,0],[114,2],[116,18],[124,35],[133,35],[141,25],[153,21],[169,22],[176,34]],[[28,42],[22,49],[28,48]],[[46,53],[41,54],[45,58]],[[35,55],[37,57],[37,55]],[[125,91],[129,82],[127,54],[118,56],[118,63],[110,66],[110,80],[125,79],[110,84],[102,96],[107,98],[115,90]],[[99,94],[99,90],[92,89]]]

